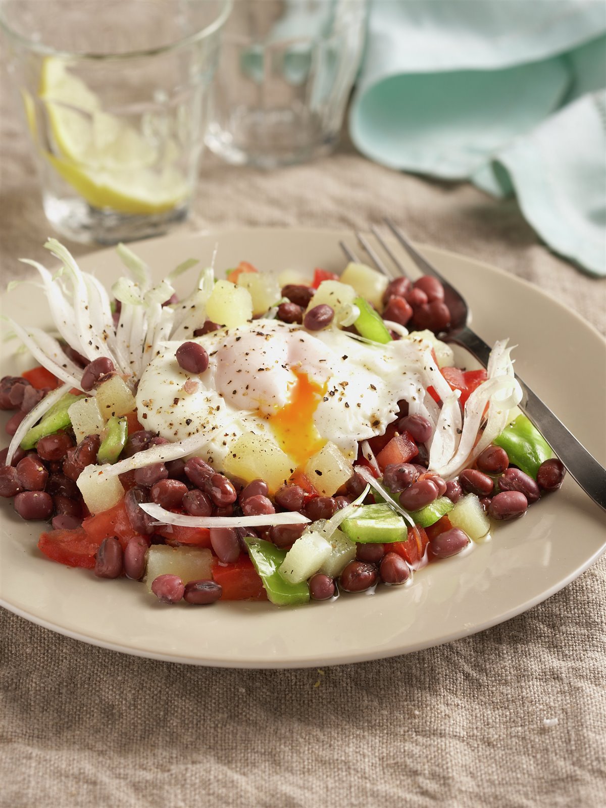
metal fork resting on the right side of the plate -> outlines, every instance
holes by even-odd
[[[415,262],[423,275],[431,275],[441,281],[444,286],[444,301],[448,305],[451,313],[451,325],[448,327],[448,333],[444,336],[444,342],[457,343],[467,348],[467,350],[481,362],[484,367],[488,364],[488,357],[490,356],[490,346],[487,345],[482,337],[479,337],[467,325],[469,308],[465,298],[457,289],[448,283],[448,280],[441,275],[441,273],[434,267],[423,255],[415,250],[408,238],[402,233],[402,230],[393,224],[390,219],[385,219],[385,224],[393,232],[393,235],[398,239],[398,242],[406,250],[410,258]],[[360,231],[356,231],[356,237],[364,250],[375,264],[377,269],[383,272],[389,278],[396,278],[398,276],[408,277],[406,270],[402,266],[402,262],[398,256],[394,254],[393,250],[385,238],[381,236],[379,230],[372,226],[372,233],[377,241],[381,244],[385,253],[393,261],[396,271],[393,271],[373,249],[368,239]],[[359,261],[356,254],[351,250],[345,242],[340,242],[341,249],[351,261]],[[558,455],[566,469],[570,473],[579,486],[589,494],[591,499],[597,503],[601,508],[606,511],[606,469],[604,469],[598,461],[595,460],[583,444],[579,443],[574,435],[564,426],[562,421],[554,415],[549,407],[546,406],[536,393],[528,387],[525,381],[516,375],[516,379],[522,388],[523,398],[520,402],[520,409],[524,411],[528,419],[537,427],[541,435],[549,443],[553,451]]]

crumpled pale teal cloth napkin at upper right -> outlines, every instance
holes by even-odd
[[[374,0],[349,119],[369,158],[515,193],[606,275],[604,0]]]

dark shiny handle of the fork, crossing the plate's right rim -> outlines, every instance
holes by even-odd
[[[485,367],[490,356],[490,347],[470,328],[464,328],[453,335],[448,342],[459,343],[476,357]],[[579,443],[557,415],[554,415],[525,381],[516,374],[522,388],[520,409],[537,427],[549,446],[558,455],[579,486],[591,499],[606,511],[606,469],[595,460],[583,444]]]

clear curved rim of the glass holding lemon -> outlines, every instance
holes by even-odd
[[[126,51],[125,53],[75,53],[74,51],[53,48],[52,45],[28,39],[27,36],[23,36],[23,34],[15,31],[7,22],[4,15],[6,2],[2,2],[2,0],[0,0],[0,29],[2,29],[2,32],[4,32],[6,36],[16,40],[33,53],[39,53],[41,56],[58,57],[65,60],[69,59],[70,61],[77,61],[79,59],[82,61],[128,61],[129,59],[159,56],[162,53],[171,53],[181,48],[187,48],[189,45],[196,44],[196,42],[204,40],[219,31],[234,7],[234,0],[217,0],[217,4],[219,4],[221,8],[217,13],[216,19],[214,19],[212,23],[208,23],[204,28],[200,28],[200,31],[183,36],[181,39],[175,40],[175,42],[158,45],[155,48],[141,48],[139,50]]]

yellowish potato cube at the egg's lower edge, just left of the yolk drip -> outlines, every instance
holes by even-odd
[[[245,432],[225,457],[223,470],[245,482],[263,478],[273,493],[288,480],[294,471],[294,465],[273,440]],[[349,476],[351,477],[351,473]]]

